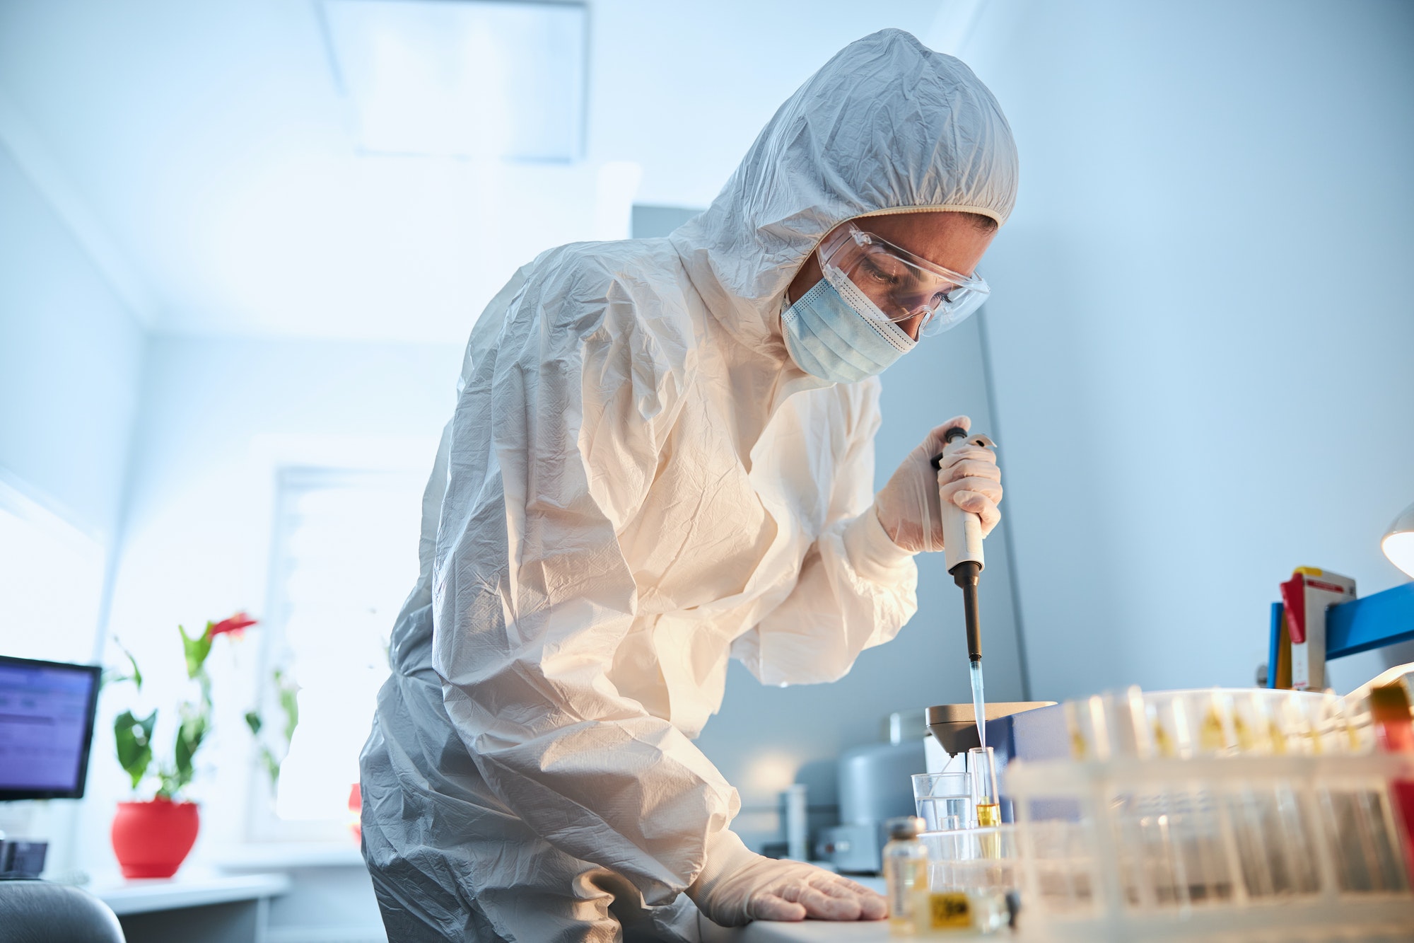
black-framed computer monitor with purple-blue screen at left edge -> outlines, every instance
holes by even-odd
[[[0,656],[0,801],[83,797],[100,673]]]

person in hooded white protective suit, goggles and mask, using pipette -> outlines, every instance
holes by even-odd
[[[781,106],[706,212],[550,249],[492,300],[362,755],[390,940],[884,916],[749,851],[693,738],[728,657],[810,684],[892,639],[939,501],[997,522],[990,452],[930,466],[953,421],[872,493],[875,377],[986,296],[1015,191],[987,88],[885,30]]]

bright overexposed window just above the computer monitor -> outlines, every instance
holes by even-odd
[[[93,661],[103,547],[0,481],[0,653]]]

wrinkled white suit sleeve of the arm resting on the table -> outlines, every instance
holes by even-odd
[[[454,413],[433,664],[508,814],[666,903],[740,808],[687,736],[607,677],[638,606],[612,517],[652,483],[673,379],[645,374],[645,338],[598,328],[588,306],[544,327],[553,299],[534,290],[520,304],[542,313],[512,312]]]

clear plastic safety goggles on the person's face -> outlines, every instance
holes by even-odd
[[[846,300],[867,300],[877,309],[861,313],[894,323],[922,317],[919,336],[932,337],[954,327],[991,292],[976,275],[959,275],[921,259],[853,224],[822,242],[819,253],[824,279]],[[858,299],[860,295],[864,297]]]

